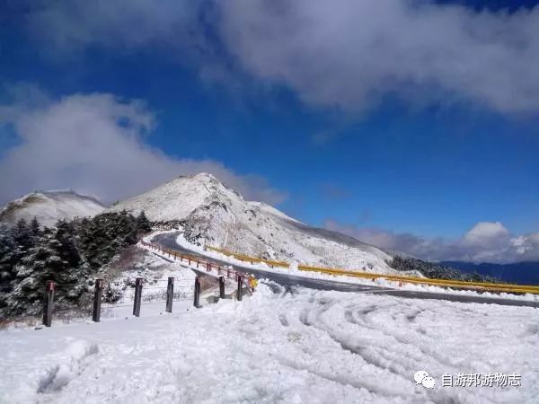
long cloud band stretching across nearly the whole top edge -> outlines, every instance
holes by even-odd
[[[393,95],[539,111],[539,6],[508,14],[416,0],[38,4],[24,21],[54,54],[160,47],[180,60],[196,55],[204,75],[223,56],[215,37],[245,71],[314,105],[358,111]]]

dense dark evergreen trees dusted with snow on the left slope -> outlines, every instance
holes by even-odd
[[[57,284],[55,301],[75,303],[88,291],[90,277],[120,250],[137,242],[139,220],[126,211],[91,219],[58,221],[52,229],[37,220],[17,222],[0,233],[0,308],[9,314],[37,314],[42,310],[47,281]]]

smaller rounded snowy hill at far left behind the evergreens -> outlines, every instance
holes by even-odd
[[[58,219],[93,216],[104,209],[97,199],[84,197],[70,189],[35,191],[5,205],[0,210],[0,225],[10,227],[19,219],[31,221],[35,216],[41,225],[51,226]]]

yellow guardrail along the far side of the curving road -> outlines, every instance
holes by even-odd
[[[206,246],[208,250],[214,250],[221,252],[225,255],[234,257],[235,259],[240,259],[247,262],[264,262],[267,265],[273,267],[282,267],[287,268],[290,264],[285,261],[276,261],[270,259],[260,259],[257,257],[251,257],[245,254],[241,254],[234,251],[229,251],[225,249],[219,249],[216,247]],[[473,290],[482,290],[489,292],[507,292],[507,293],[520,293],[520,294],[539,294],[539,286],[533,285],[509,285],[509,284],[495,284],[492,282],[467,282],[451,279],[432,279],[425,277],[406,277],[399,275],[387,275],[387,274],[376,274],[370,272],[358,272],[350,271],[348,269],[340,268],[323,268],[323,267],[314,267],[310,265],[299,265],[297,267],[303,271],[311,272],[322,272],[324,274],[335,275],[335,276],[347,276],[347,277],[363,277],[367,279],[376,279],[382,277],[387,280],[405,282],[416,285],[433,285],[433,286],[442,286],[442,287],[452,287],[457,289],[473,289]]]

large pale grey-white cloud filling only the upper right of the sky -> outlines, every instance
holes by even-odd
[[[232,0],[222,13],[243,66],[309,103],[362,110],[393,94],[538,111],[539,7],[508,15],[411,0]]]

